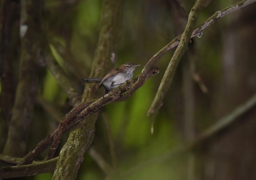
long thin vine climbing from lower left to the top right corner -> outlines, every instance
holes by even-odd
[[[246,6],[246,5],[249,5],[250,3],[252,3],[252,2],[255,2],[256,0],[244,0],[244,1],[241,1],[241,2],[239,2],[238,4],[235,4],[235,5],[232,5],[232,6],[229,6],[229,7],[227,7],[227,8],[225,8],[225,9],[229,9],[229,8],[231,8],[232,9],[232,7],[234,7],[234,6],[237,6],[237,5],[239,5],[239,7],[240,8],[242,8],[242,7],[244,7],[244,6]],[[224,16],[224,14],[226,15],[227,13],[230,13],[231,11],[228,11],[228,10],[225,10],[225,9],[223,9],[221,12],[223,12],[222,13],[222,16],[221,17],[223,17]],[[233,9],[234,10],[234,9]],[[238,9],[236,9],[236,10],[238,10]],[[233,11],[232,11],[233,12]],[[216,13],[215,13],[216,14]],[[218,16],[218,18],[220,18],[219,16]],[[199,25],[195,30],[193,30],[193,33],[192,33],[192,36],[194,37],[194,36],[196,36],[196,34],[198,34],[199,32],[200,32],[200,30],[203,30],[203,29],[205,29],[205,28],[207,28],[207,27],[209,27],[215,20],[217,20],[216,19],[216,16],[215,15],[213,15],[213,16],[211,16],[211,18],[209,18],[208,20],[206,20],[204,23],[202,23],[201,25]],[[148,77],[150,77],[151,75],[153,75],[152,73],[157,73],[157,71],[158,70],[156,70],[156,69],[154,69],[153,70],[153,68],[151,69],[151,67],[153,67],[154,66],[154,64],[164,55],[164,54],[166,54],[169,50],[171,50],[172,48],[174,48],[175,46],[177,46],[177,44],[179,44],[179,39],[181,38],[181,35],[180,36],[177,36],[173,41],[171,41],[170,43],[168,43],[165,47],[163,47],[160,51],[158,51],[151,59],[150,59],[150,61],[145,65],[145,67],[144,67],[144,69],[142,70],[142,73],[139,75],[139,76],[137,76],[137,77],[135,77],[135,78],[133,78],[133,79],[131,79],[130,81],[127,81],[127,82],[125,82],[123,85],[121,85],[121,86],[119,86],[119,88],[117,88],[117,89],[115,89],[115,90],[113,90],[112,92],[110,92],[109,94],[107,94],[106,96],[109,98],[108,100],[109,100],[109,102],[112,102],[112,101],[124,101],[125,99],[127,99],[129,96],[131,96],[139,87],[141,87],[143,84],[144,84],[144,82],[146,81],[146,79],[148,78]],[[150,74],[150,71],[152,71],[151,72],[151,74]],[[127,89],[129,89],[129,91],[127,91],[127,92],[125,92],[125,85],[128,85],[130,88],[127,88]],[[122,96],[120,96],[120,94],[119,94],[119,98],[113,98],[112,96],[113,96],[113,93],[118,93],[119,92],[119,89],[123,89],[124,91],[120,91],[120,92],[125,92],[125,94],[124,95],[122,95]],[[102,98],[106,98],[106,96],[103,96]],[[97,101],[96,103],[97,103],[97,107],[95,106],[95,108],[94,108],[94,105],[92,105],[92,106],[90,106],[90,107],[92,107],[92,109],[94,109],[95,111],[97,111],[100,107],[102,107],[103,105],[106,105],[107,104],[107,101],[102,101],[103,99],[101,98],[101,100],[100,101]],[[105,99],[106,100],[106,99]],[[108,102],[108,103],[109,103]],[[104,104],[102,104],[102,106],[99,106],[99,104],[100,103],[104,103]],[[84,103],[85,104],[85,103]],[[80,106],[81,107],[81,106]],[[76,107],[76,108],[78,108],[78,107]],[[76,108],[74,108],[74,109],[76,109]],[[73,109],[73,110],[74,110]],[[72,110],[72,111],[73,111]],[[70,112],[68,115],[72,115],[72,118],[76,118],[76,123],[77,122],[79,122],[77,119],[79,119],[78,117],[88,117],[89,115],[88,115],[88,109],[87,110],[84,110],[83,111],[83,113],[82,112],[80,112],[79,114],[77,114],[77,115],[75,115],[74,114],[74,112]],[[94,112],[95,112],[94,111]],[[93,113],[93,112],[92,112]],[[86,114],[86,115],[85,115]],[[67,119],[67,120],[71,120],[71,117],[68,117],[67,118],[67,116],[65,116],[63,119]],[[81,119],[79,119],[79,120],[81,120]],[[70,127],[72,127],[72,126],[70,126]],[[70,128],[69,127],[69,128]],[[63,131],[63,133],[64,132],[66,132],[66,130],[65,131]],[[43,141],[41,141],[39,144],[38,144],[38,146],[33,150],[33,151],[31,151],[31,152],[29,152],[24,158],[23,158],[23,160],[19,163],[19,165],[22,165],[22,164],[29,164],[29,163],[31,163],[32,161],[33,161],[33,159],[38,155],[38,154],[40,154],[44,149],[46,149],[48,146],[50,146],[51,145],[51,143],[53,142],[53,138],[54,138],[54,136],[55,136],[55,134],[57,133],[57,130],[56,131],[54,131],[51,135],[49,135],[49,136],[47,136],[46,137],[46,139],[44,139]]]

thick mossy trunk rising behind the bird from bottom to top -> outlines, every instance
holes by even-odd
[[[108,70],[113,68],[121,37],[122,13],[122,1],[103,1],[99,40],[90,77],[103,77]],[[82,102],[99,97],[97,89],[98,86],[95,83],[87,84]],[[89,107],[88,109],[90,109]],[[80,164],[83,161],[83,155],[93,140],[94,124],[97,116],[98,113],[95,113],[87,119],[85,117],[81,118],[81,120],[85,119],[83,124],[70,132],[69,139],[61,150],[53,179],[76,178]],[[67,166],[63,166],[63,164]]]

